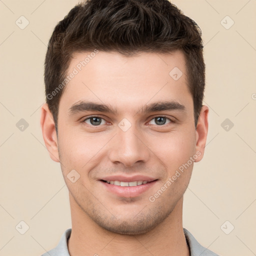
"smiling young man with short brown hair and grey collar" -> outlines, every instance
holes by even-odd
[[[167,0],[89,0],[56,25],[41,128],[72,229],[43,255],[216,255],[182,226],[208,130],[200,35]]]

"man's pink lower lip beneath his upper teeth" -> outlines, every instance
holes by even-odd
[[[109,184],[100,180],[100,182],[106,187],[106,189],[112,193],[115,193],[118,196],[122,197],[136,197],[146,190],[148,190],[151,186],[153,186],[156,180],[148,182],[146,184],[141,184],[137,186],[117,186],[114,184]]]

